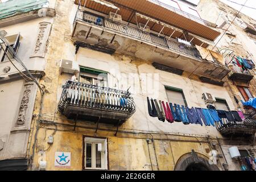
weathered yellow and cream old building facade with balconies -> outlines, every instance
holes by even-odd
[[[203,0],[36,2],[0,15],[1,43],[19,42],[16,59],[0,63],[2,169],[225,171],[241,170],[230,147],[254,155],[254,110],[240,100],[255,98],[255,69],[230,72],[230,63],[256,60],[256,44],[240,25],[225,32],[230,22],[218,16],[233,9],[213,0],[211,15]],[[147,98],[206,109],[204,93],[246,120],[184,125],[148,113]]]

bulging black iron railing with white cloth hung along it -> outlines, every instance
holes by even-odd
[[[68,105],[131,115],[135,113],[135,104],[130,92],[71,80],[66,82],[61,94],[59,102],[61,113],[64,113]]]

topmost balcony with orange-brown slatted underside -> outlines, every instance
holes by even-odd
[[[143,14],[150,18],[159,20],[171,26],[180,28],[181,30],[191,32],[194,35],[198,35],[201,38],[214,41],[220,32],[213,30],[209,27],[212,23],[209,23],[201,18],[191,15],[185,11],[177,9],[171,5],[160,2],[159,0],[105,0],[108,3],[112,3],[119,8],[118,14],[122,15],[122,19],[125,22],[136,24],[135,14]],[[98,1],[97,1],[98,2]],[[110,8],[105,7],[103,3],[97,3],[96,1],[75,0],[76,5],[81,3],[90,10],[98,11],[102,14],[109,14]],[[145,22],[141,22],[145,23]],[[157,26],[154,22],[148,24],[152,30],[159,32],[162,27]],[[167,32],[168,36],[172,32]]]

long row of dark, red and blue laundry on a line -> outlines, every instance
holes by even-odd
[[[150,102],[151,101],[151,102]],[[208,109],[183,106],[169,102],[151,100],[147,97],[148,114],[151,117],[158,117],[162,122],[182,122],[184,125],[195,124],[205,126],[216,126],[216,123],[224,125],[222,119],[229,122],[242,122],[245,116],[242,111],[216,110],[213,105],[208,105]]]

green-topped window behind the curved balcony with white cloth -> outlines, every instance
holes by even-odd
[[[85,84],[108,86],[108,73],[90,68],[80,68],[79,81]]]

